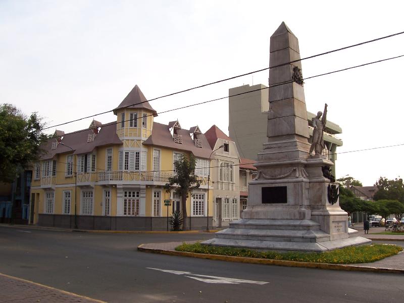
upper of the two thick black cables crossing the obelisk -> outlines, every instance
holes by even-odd
[[[282,64],[279,64],[279,65],[266,67],[266,68],[263,68],[263,69],[260,69],[260,70],[256,70],[256,71],[252,71],[252,72],[248,72],[248,73],[245,73],[245,74],[240,74],[240,75],[233,76],[233,77],[230,77],[230,78],[225,78],[225,79],[218,80],[218,81],[214,81],[214,82],[210,82],[210,83],[207,83],[207,84],[198,85],[198,86],[195,86],[195,87],[187,88],[187,89],[184,89],[184,90],[180,90],[180,91],[176,91],[176,92],[169,93],[169,94],[166,94],[166,95],[162,95],[162,96],[159,96],[159,97],[156,97],[156,98],[153,98],[153,99],[149,99],[149,100],[146,100],[146,101],[143,101],[143,102],[134,103],[134,104],[128,105],[128,106],[123,107],[123,108],[129,108],[129,107],[134,106],[134,105],[139,105],[139,104],[143,104],[143,103],[146,103],[146,102],[151,102],[151,101],[154,101],[154,100],[157,100],[157,99],[161,99],[161,98],[164,98],[164,97],[168,97],[168,96],[176,95],[176,94],[179,94],[179,93],[187,92],[187,91],[194,90],[194,89],[197,89],[197,88],[206,87],[206,86],[209,86],[209,85],[217,84],[217,83],[220,83],[220,82],[224,82],[224,81],[236,79],[236,78],[243,77],[243,76],[247,76],[247,75],[251,75],[251,74],[255,74],[255,73],[258,73],[258,72],[265,71],[265,70],[269,70],[269,69],[281,67],[281,66],[284,66],[284,65],[292,64],[292,63],[295,63],[295,62],[299,62],[299,61],[303,61],[303,60],[307,60],[307,59],[312,59],[312,58],[316,58],[316,57],[319,57],[319,56],[328,55],[328,54],[331,54],[331,53],[343,51],[344,49],[348,49],[348,48],[351,48],[351,47],[356,47],[356,46],[360,46],[360,45],[363,45],[363,44],[367,44],[367,43],[379,41],[379,40],[386,39],[386,38],[390,38],[390,37],[393,37],[393,36],[397,36],[397,35],[400,35],[400,34],[403,34],[403,33],[404,33],[404,31],[398,32],[398,33],[395,33],[395,34],[391,34],[391,35],[387,35],[387,36],[383,36],[383,37],[380,37],[380,38],[376,38],[376,39],[372,39],[372,40],[360,42],[360,43],[357,43],[357,44],[352,44],[352,45],[344,46],[344,47],[341,47],[341,48],[333,49],[332,51],[328,51],[328,52],[325,52],[325,53],[320,53],[320,54],[312,55],[312,56],[309,56],[309,57],[305,57],[305,58],[293,60],[293,61],[290,61],[290,62],[287,62],[287,63],[282,63]],[[87,119],[87,118],[91,118],[91,117],[95,117],[95,116],[107,114],[107,113],[110,113],[110,112],[113,112],[113,111],[114,111],[114,110],[110,110],[110,111],[106,111],[106,112],[94,114],[94,115],[91,115],[91,116],[79,118],[79,119],[72,120],[72,121],[68,121],[68,122],[64,122],[64,123],[61,123],[61,124],[57,124],[57,125],[45,127],[45,128],[42,128],[41,130],[45,130],[45,129],[49,129],[49,128],[53,128],[53,127],[57,127],[57,126],[61,126],[61,125],[65,125],[65,124],[69,124],[69,123],[73,123],[73,122],[77,122],[77,121],[80,121],[80,120],[83,120],[83,119]]]

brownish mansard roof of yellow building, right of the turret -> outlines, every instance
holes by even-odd
[[[204,134],[198,134],[198,139],[201,140],[202,147],[195,146],[195,142],[189,135],[189,130],[178,128],[176,134],[182,136],[181,144],[174,142],[173,136],[170,133],[169,125],[154,122],[151,135],[143,142],[143,144],[190,151],[198,158],[209,158],[211,155],[212,148]]]

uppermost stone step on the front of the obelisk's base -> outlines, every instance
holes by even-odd
[[[230,228],[245,229],[290,229],[320,230],[320,224],[313,220],[280,220],[280,219],[240,219],[229,223]]]

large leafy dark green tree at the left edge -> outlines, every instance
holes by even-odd
[[[12,182],[17,173],[39,158],[42,133],[37,113],[26,117],[11,104],[0,105],[0,181]]]

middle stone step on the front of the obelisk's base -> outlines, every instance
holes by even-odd
[[[330,235],[321,230],[282,230],[282,229],[249,229],[228,228],[215,233],[217,238],[264,240],[264,241],[295,241],[322,242],[329,241]]]

